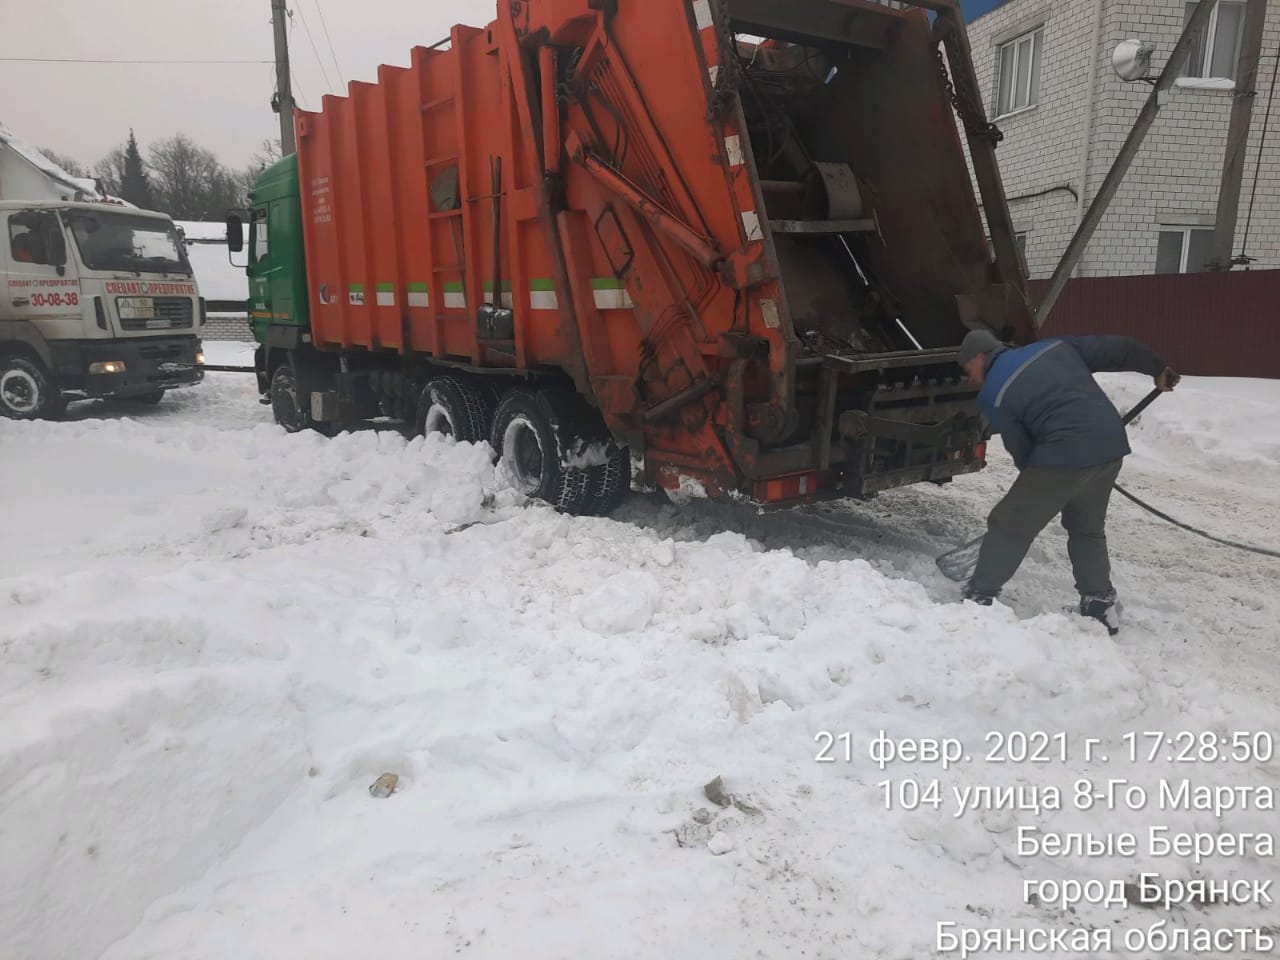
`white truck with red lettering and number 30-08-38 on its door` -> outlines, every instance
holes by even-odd
[[[204,380],[205,301],[164,214],[90,201],[0,201],[0,415],[69,401],[157,403]]]

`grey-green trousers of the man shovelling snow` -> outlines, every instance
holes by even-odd
[[[1027,550],[1059,513],[1082,595],[1112,591],[1107,556],[1107,504],[1123,460],[1087,470],[1027,467],[987,520],[987,536],[969,591],[996,596],[1018,572]]]

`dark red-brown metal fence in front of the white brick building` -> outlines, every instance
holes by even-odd
[[[1047,280],[1030,283],[1038,302]],[[1280,270],[1071,280],[1044,335],[1124,334],[1193,376],[1280,379]]]

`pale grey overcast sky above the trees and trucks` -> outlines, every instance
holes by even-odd
[[[454,23],[488,24],[495,0],[288,0],[288,6],[294,96],[303,109],[316,109],[324,93],[344,92],[342,79],[374,81],[379,64],[407,65],[410,47],[444,38]],[[270,20],[270,0],[0,0],[0,122],[23,140],[86,166],[122,143],[131,127],[143,148],[180,132],[228,165],[243,166],[264,140],[279,136],[270,108],[275,86]],[[10,58],[266,63],[76,64]]]

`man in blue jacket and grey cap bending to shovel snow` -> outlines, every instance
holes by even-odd
[[[1010,348],[986,330],[965,337],[960,366],[980,388],[978,406],[1019,470],[987,521],[965,599],[989,605],[1032,541],[1061,513],[1080,613],[1116,634],[1106,518],[1111,488],[1132,451],[1124,422],[1093,374],[1147,374],[1166,392],[1179,375],[1128,337],[1061,337]]]

